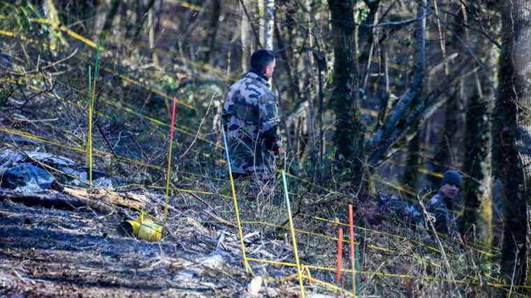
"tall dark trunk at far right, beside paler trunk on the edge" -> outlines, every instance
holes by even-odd
[[[527,204],[522,160],[518,156],[518,102],[528,101],[531,84],[526,80],[530,68],[530,15],[523,3],[503,1],[502,52],[495,110],[493,112],[493,178],[502,185],[504,234],[502,277],[507,283],[523,285],[527,270]],[[518,67],[519,69],[517,69]]]

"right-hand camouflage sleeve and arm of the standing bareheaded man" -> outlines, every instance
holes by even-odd
[[[259,100],[259,133],[266,149],[279,153],[280,131],[278,107],[275,96],[264,94]]]

